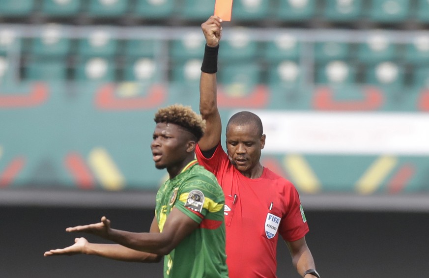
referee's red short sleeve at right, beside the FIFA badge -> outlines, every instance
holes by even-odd
[[[295,241],[304,237],[309,228],[298,191],[292,184],[286,187],[285,199],[287,201],[286,215],[280,225],[280,234],[286,241]]]

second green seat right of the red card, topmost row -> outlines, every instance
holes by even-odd
[[[315,0],[281,0],[275,16],[283,21],[306,21],[315,15]]]

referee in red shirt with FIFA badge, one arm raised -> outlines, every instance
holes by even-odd
[[[206,120],[206,131],[196,155],[200,165],[216,175],[225,194],[229,277],[276,277],[279,234],[297,272],[305,278],[319,277],[305,241],[309,228],[295,187],[259,162],[265,144],[260,118],[248,111],[234,114],[226,127],[227,152],[221,146],[222,123],[216,102],[221,22],[211,16],[201,24],[206,47],[200,113]]]

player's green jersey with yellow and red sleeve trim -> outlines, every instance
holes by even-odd
[[[164,257],[165,278],[227,278],[225,196],[216,177],[194,160],[167,180],[156,195],[156,219],[162,232],[173,207],[200,223]]]

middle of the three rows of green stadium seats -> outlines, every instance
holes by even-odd
[[[205,45],[200,31],[190,31],[181,39],[171,40],[118,39],[113,30],[101,28],[88,32],[85,37],[76,38],[70,30],[56,24],[48,25],[39,32],[35,37],[23,38],[13,29],[0,29],[0,55],[20,52],[39,58],[64,58],[70,55],[107,58],[167,56],[173,60],[184,60],[201,58]],[[257,41],[250,29],[236,28],[230,32],[229,37],[222,40],[219,58],[228,61],[262,59],[275,62],[310,57],[316,62],[356,59],[365,63],[388,60],[412,64],[429,63],[429,34],[415,34],[401,42],[393,41],[394,36],[398,35],[388,35],[386,32],[373,31],[361,33],[361,36],[362,41],[325,38],[325,41],[312,42],[299,40],[288,32],[282,32],[273,34],[269,40]]]

